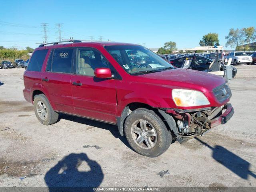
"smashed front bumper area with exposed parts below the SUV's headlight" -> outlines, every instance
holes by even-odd
[[[231,104],[225,104],[221,107],[196,110],[165,109],[159,112],[174,132],[176,136],[174,139],[184,141],[203,135],[220,124],[225,124],[233,116],[234,109]]]

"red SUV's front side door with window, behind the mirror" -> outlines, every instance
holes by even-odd
[[[71,88],[77,115],[106,122],[116,122],[116,79],[100,79],[94,76],[95,68],[115,69],[94,48],[77,48],[76,74],[72,75]]]

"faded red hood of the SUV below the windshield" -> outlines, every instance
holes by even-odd
[[[140,76],[148,83],[156,83],[170,88],[184,88],[212,92],[212,90],[226,82],[222,77],[206,72],[176,68],[162,72],[144,74]]]

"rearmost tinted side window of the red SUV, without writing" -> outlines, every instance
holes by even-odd
[[[48,49],[35,51],[28,64],[28,71],[41,71]]]

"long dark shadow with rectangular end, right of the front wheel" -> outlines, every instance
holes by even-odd
[[[240,158],[222,146],[216,145],[215,147],[212,147],[197,137],[195,139],[212,150],[212,158],[228,168],[234,174],[240,176],[240,178],[247,179],[248,175],[256,178],[256,175],[249,170],[250,163],[248,161]]]

